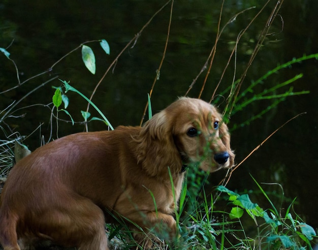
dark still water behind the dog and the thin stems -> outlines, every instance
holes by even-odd
[[[219,1],[220,2],[220,1]],[[238,34],[260,11],[266,1],[226,1],[221,26],[236,13],[245,11],[231,22],[224,30],[215,54],[211,73],[202,99],[209,101],[225,68]],[[1,110],[8,107],[13,100],[20,100],[26,93],[55,76],[70,80],[86,96],[90,96],[106,69],[124,46],[139,32],[149,18],[160,9],[164,1],[3,1],[0,4],[0,47],[7,48],[19,69],[19,77],[24,81],[31,76],[49,69],[63,55],[90,40],[106,39],[110,45],[110,55],[106,55],[98,43],[88,44],[97,60],[96,75],[85,69],[80,50],[70,54],[56,65],[50,73],[35,78],[19,88],[0,96]],[[264,28],[275,1],[270,1],[257,20],[242,37],[237,50],[236,76],[239,78],[246,67],[251,51]],[[112,125],[138,125],[140,123],[147,93],[160,64],[167,38],[171,4],[167,5],[144,29],[133,48],[120,56],[115,67],[103,80],[93,97],[93,102],[104,112]],[[278,64],[283,64],[304,54],[318,52],[318,19],[316,18],[316,1],[284,1],[283,6],[266,37],[255,61],[248,70],[242,90],[252,81],[259,79]],[[190,83],[199,74],[215,42],[220,4],[212,1],[175,1],[172,13],[170,39],[165,55],[160,79],[156,82],[152,95],[153,111],[161,110],[183,96]],[[234,74],[234,62],[221,81],[217,93],[228,87]],[[294,91],[310,90],[308,95],[288,97],[284,102],[266,113],[263,117],[249,124],[232,130],[232,145],[239,163],[257,145],[275,129],[293,116],[307,112],[305,115],[288,123],[259,150],[251,155],[236,170],[228,184],[229,189],[239,192],[257,190],[251,174],[261,182],[278,182],[282,185],[284,208],[297,197],[295,210],[313,227],[318,227],[318,62],[315,59],[295,64],[280,70],[265,79],[254,91],[284,82],[295,75],[303,77],[292,84]],[[190,97],[198,97],[206,71],[198,78]],[[0,55],[0,91],[17,84],[15,68],[3,54]],[[14,110],[29,105],[49,104],[54,90],[51,86],[60,86],[55,79],[29,97],[23,99]],[[277,90],[283,93],[289,88]],[[251,97],[253,93],[248,93]],[[86,102],[76,95],[68,93],[68,108],[76,121],[82,121],[80,110],[86,109]],[[250,119],[273,103],[272,100],[253,102],[241,111],[233,114],[230,128]],[[219,102],[219,109],[225,103]],[[50,106],[51,107],[51,106]],[[98,115],[92,109],[93,115]],[[12,115],[25,114],[23,118],[9,117],[0,124],[7,134],[10,129],[21,135],[29,135],[44,122],[40,130],[24,141],[31,150],[40,145],[40,135],[45,140],[50,137],[50,108],[32,106],[17,110]],[[4,112],[1,113],[4,115]],[[62,119],[67,115],[59,114]],[[89,130],[102,130],[101,122],[93,121]],[[82,124],[72,126],[59,122],[59,136],[83,130]],[[56,124],[53,124],[53,138],[56,138]],[[5,133],[1,135],[5,139]],[[220,171],[214,174],[210,182],[216,184],[224,176]],[[263,185],[274,201],[279,202],[280,188],[277,185]],[[256,196],[260,199],[261,196]],[[261,207],[267,208],[266,201],[255,200]]]

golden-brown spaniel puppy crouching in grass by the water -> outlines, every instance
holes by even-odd
[[[5,250],[33,249],[42,240],[108,250],[110,214],[146,233],[161,223],[173,237],[185,167],[214,172],[230,168],[234,157],[222,116],[193,98],[178,99],[143,127],[62,137],[11,170],[1,196],[0,242]],[[134,233],[137,242],[145,237]]]

